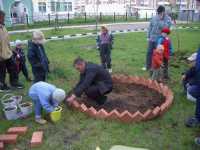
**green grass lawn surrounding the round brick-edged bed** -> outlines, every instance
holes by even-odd
[[[28,134],[18,139],[16,146],[9,146],[12,150],[29,148],[29,141],[33,131],[44,131],[44,142],[36,150],[95,150],[100,146],[102,150],[109,150],[112,145],[122,144],[127,146],[144,147],[151,150],[197,150],[194,137],[200,130],[188,129],[184,120],[194,114],[195,105],[186,100],[182,94],[181,72],[187,65],[179,60],[180,56],[189,56],[199,44],[200,30],[179,30],[181,39],[180,50],[171,59],[171,81],[168,85],[174,92],[174,103],[164,116],[148,122],[137,124],[123,124],[117,121],[104,121],[92,119],[63,104],[62,119],[57,124],[48,123],[41,126],[34,122],[34,116],[16,121],[6,121],[0,113],[0,133],[6,132],[9,127],[29,127]],[[172,33],[174,49],[177,50],[176,32]],[[147,42],[145,33],[128,33],[115,36],[112,51],[114,73],[139,75],[148,77],[147,72],[141,68],[144,65]],[[46,52],[50,59],[51,73],[48,82],[69,91],[78,81],[78,72],[72,68],[72,62],[77,56],[88,61],[100,63],[98,51],[95,47],[95,37],[81,38],[66,41],[51,41],[46,43]],[[30,66],[29,66],[30,68]],[[24,96],[24,101],[30,101],[27,91],[30,83],[20,80],[25,84],[25,89],[16,91]],[[0,95],[2,96],[2,94]]]

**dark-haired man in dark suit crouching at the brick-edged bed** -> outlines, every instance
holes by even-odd
[[[113,88],[109,72],[102,66],[86,62],[80,57],[74,60],[74,67],[80,72],[80,81],[74,88],[73,94],[67,99],[68,102],[85,93],[88,98],[103,105],[107,100],[106,94]]]

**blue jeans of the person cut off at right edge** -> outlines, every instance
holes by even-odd
[[[200,85],[191,85],[187,90],[190,95],[197,99],[195,117],[200,121]]]

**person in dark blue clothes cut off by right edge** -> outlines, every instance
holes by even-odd
[[[187,127],[197,127],[200,126],[200,47],[196,55],[195,68],[192,67],[182,78],[184,80],[191,77],[193,82],[188,85],[187,92],[196,99],[196,110],[195,116],[189,118],[185,124]],[[200,145],[200,138],[196,138],[195,142]]]

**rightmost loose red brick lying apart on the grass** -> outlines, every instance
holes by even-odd
[[[31,139],[31,147],[36,147],[42,144],[43,132],[37,131],[34,132]]]

